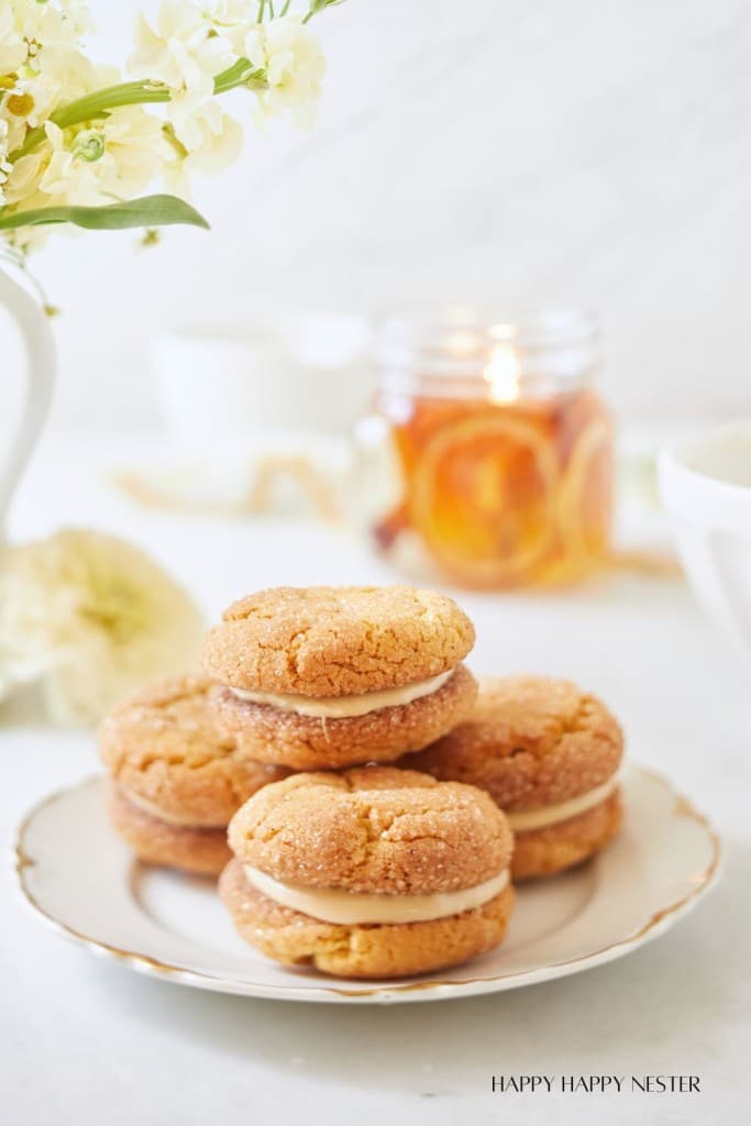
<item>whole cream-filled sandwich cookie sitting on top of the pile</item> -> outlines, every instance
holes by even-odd
[[[439,739],[476,696],[466,615],[406,587],[279,588],[208,634],[218,722],[243,753],[296,770],[388,762]]]

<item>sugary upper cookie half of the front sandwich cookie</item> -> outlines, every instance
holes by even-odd
[[[242,806],[229,839],[243,864],[275,879],[354,893],[474,887],[512,851],[486,794],[393,767],[292,775]]]

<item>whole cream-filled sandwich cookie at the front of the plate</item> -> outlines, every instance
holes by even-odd
[[[266,787],[230,823],[220,895],[263,954],[343,977],[426,973],[495,947],[512,833],[472,786],[365,767]]]

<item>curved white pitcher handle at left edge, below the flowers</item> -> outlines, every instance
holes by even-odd
[[[50,321],[38,301],[0,269],[0,307],[7,309],[26,346],[26,396],[18,431],[0,466],[0,542],[10,501],[32,456],[52,400],[55,347]]]

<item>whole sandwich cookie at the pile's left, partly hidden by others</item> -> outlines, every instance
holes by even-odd
[[[289,772],[239,754],[217,730],[215,691],[204,678],[171,680],[120,704],[99,730],[110,820],[150,864],[218,875],[232,815]]]

